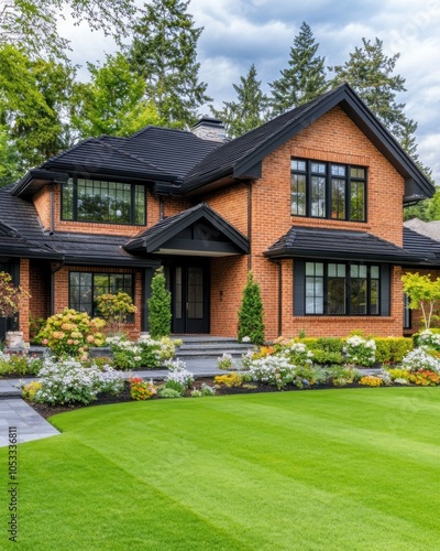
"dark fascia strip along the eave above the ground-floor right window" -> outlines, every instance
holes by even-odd
[[[378,262],[389,263],[395,266],[417,266],[426,261],[425,257],[415,257],[414,255],[350,255],[348,252],[338,251],[322,251],[309,249],[308,251],[295,250],[290,247],[282,247],[276,250],[266,250],[263,255],[271,259],[286,259],[286,258],[314,258],[322,260],[355,260],[356,262]]]

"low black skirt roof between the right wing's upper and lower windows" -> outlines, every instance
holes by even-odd
[[[366,231],[295,226],[272,245],[264,255],[270,258],[296,257],[394,264],[414,264],[425,260],[420,251],[404,250]]]

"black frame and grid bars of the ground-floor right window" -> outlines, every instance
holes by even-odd
[[[316,312],[317,307],[316,304],[314,305],[315,312],[307,312],[307,283],[308,283],[308,278],[311,279],[310,276],[307,274],[307,264],[314,264],[314,273],[320,273],[318,278],[322,282],[322,312]],[[383,295],[383,290],[384,290],[384,279],[387,277],[386,270],[383,270],[383,267],[381,263],[364,263],[364,262],[346,262],[346,261],[340,261],[340,260],[305,260],[304,263],[304,281],[302,281],[302,305],[301,305],[301,312],[302,315],[307,317],[316,317],[316,316],[336,316],[336,317],[380,317],[383,315],[388,315],[384,314],[383,309],[382,309],[382,295]],[[322,270],[317,270],[317,264],[322,266]],[[331,276],[329,267],[330,266],[336,266],[336,267],[344,267],[344,277],[341,278],[338,276]],[[359,279],[359,278],[353,278],[351,274],[351,268],[352,267],[364,267],[366,268],[366,312],[354,312],[353,311],[353,304],[351,302],[351,291],[352,291],[352,279]],[[374,270],[377,269],[378,276],[374,277]],[[338,268],[337,268],[338,270]],[[343,300],[343,306],[344,311],[343,312],[331,312],[330,311],[330,299],[329,299],[329,281],[332,279],[343,279],[344,280],[344,300]],[[301,284],[300,278],[295,278],[297,281],[297,284]],[[377,292],[377,298],[376,302],[372,301],[372,294],[373,294],[373,285],[372,282],[376,283],[376,292]],[[296,296],[298,298],[298,290],[295,293]],[[309,293],[309,296],[311,294]],[[317,295],[316,293],[314,294],[315,298],[321,298],[321,294]],[[294,312],[295,315],[298,315],[297,313]]]

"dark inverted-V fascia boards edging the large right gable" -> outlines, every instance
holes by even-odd
[[[322,115],[337,106],[340,106],[345,111],[405,180],[413,179],[426,197],[433,195],[435,187],[429,180],[348,84],[336,88],[333,94],[329,94],[321,101],[317,101],[298,120],[292,125],[287,125],[270,140],[266,140],[261,147],[256,148],[251,154],[245,155],[244,159],[234,165],[233,175],[240,177],[241,174],[245,174],[258,161],[262,161],[290,138],[308,128]]]

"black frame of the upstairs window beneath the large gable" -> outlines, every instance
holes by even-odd
[[[305,163],[305,170],[294,169],[294,162],[296,163]],[[314,171],[311,170],[312,164],[323,165],[324,172]],[[332,166],[343,166],[345,175],[332,174]],[[360,176],[351,176],[352,170],[363,170],[364,177]],[[304,176],[305,182],[305,214],[297,214],[293,212],[293,184],[294,184],[294,175]],[[320,177],[324,180],[324,216],[318,216],[312,214],[312,179]],[[333,184],[336,181],[340,181],[344,183],[343,193],[344,193],[344,214],[343,217],[333,217],[332,214],[332,192]],[[353,222],[365,224],[367,222],[367,181],[369,173],[366,166],[360,166],[358,164],[350,163],[338,163],[331,161],[319,161],[316,159],[300,159],[293,156],[290,159],[290,216],[299,216],[306,218],[319,218],[319,219],[329,219],[329,220],[340,220],[340,222]],[[363,184],[364,191],[364,205],[363,205],[363,218],[355,219],[352,218],[352,192],[353,185],[355,183]],[[298,195],[298,193],[297,193]]]

